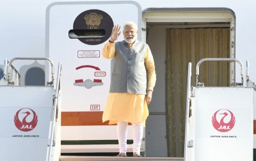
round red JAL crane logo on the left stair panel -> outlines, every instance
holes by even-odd
[[[33,115],[31,115],[31,113]],[[21,119],[22,121],[20,121]],[[35,111],[33,111],[30,108],[22,108],[19,111],[17,111],[16,115],[14,116],[14,123],[15,126],[24,132],[31,131],[35,129],[37,125],[37,115]]]

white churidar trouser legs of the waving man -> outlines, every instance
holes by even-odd
[[[127,152],[127,131],[128,122],[117,122],[117,137],[119,144],[119,152]],[[143,136],[143,123],[132,123],[132,133],[133,133],[133,153],[140,154],[141,140]]]

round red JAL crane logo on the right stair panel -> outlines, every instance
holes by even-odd
[[[212,116],[212,125],[220,132],[228,132],[233,129],[235,123],[235,116],[228,109],[219,109]]]

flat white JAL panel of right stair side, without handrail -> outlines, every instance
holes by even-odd
[[[194,115],[193,160],[253,160],[253,88],[196,88]]]

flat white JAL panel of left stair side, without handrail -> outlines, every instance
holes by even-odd
[[[0,160],[47,160],[53,88],[0,91]]]

